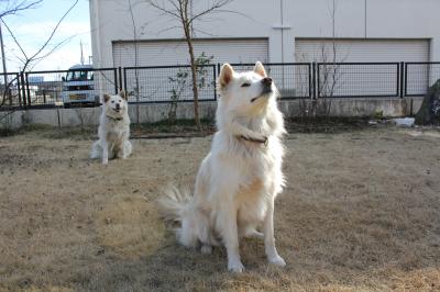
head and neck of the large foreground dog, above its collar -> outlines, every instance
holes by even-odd
[[[224,64],[217,87],[221,96],[216,114],[219,130],[253,139],[285,133],[276,102],[279,92],[260,61],[246,72],[235,72],[231,65]]]

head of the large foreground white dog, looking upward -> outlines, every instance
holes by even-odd
[[[246,72],[235,72],[231,65],[224,64],[221,67],[218,89],[223,105],[245,116],[264,113],[271,99],[275,99],[278,92],[260,61],[252,71]]]

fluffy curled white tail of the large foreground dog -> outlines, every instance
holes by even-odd
[[[165,220],[182,222],[193,195],[188,190],[180,191],[174,186],[169,186],[164,192],[157,200],[162,216]]]

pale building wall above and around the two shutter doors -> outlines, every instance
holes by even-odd
[[[132,1],[134,26],[127,0],[91,0],[90,23],[94,64],[112,67],[112,42],[177,40],[183,37],[178,22],[148,7]],[[158,1],[166,3],[167,1]],[[338,38],[428,38],[431,60],[440,60],[439,0],[336,0]],[[194,1],[194,12],[205,1]],[[295,38],[332,36],[333,0],[238,0],[224,9],[239,13],[217,13],[210,21],[196,22],[195,37],[264,37],[270,41],[270,61],[295,61]],[[208,32],[205,34],[202,32]],[[142,64],[147,65],[147,64]]]

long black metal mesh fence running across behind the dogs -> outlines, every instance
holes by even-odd
[[[231,64],[237,71],[254,64]],[[265,64],[282,99],[419,97],[440,79],[440,63]],[[221,65],[198,70],[200,101],[217,100]],[[99,105],[103,93],[124,89],[131,103],[190,102],[189,65],[0,74],[0,110]],[[59,103],[58,103],[59,102]]]

